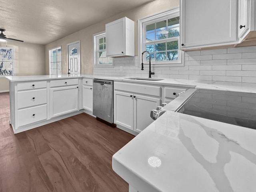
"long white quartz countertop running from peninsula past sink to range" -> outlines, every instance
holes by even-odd
[[[127,76],[104,76],[94,74],[78,74],[78,75],[38,75],[38,76],[7,76],[10,82],[35,81],[35,80],[56,80],[67,78],[97,78],[123,82],[156,84],[166,86],[180,86],[200,89],[226,90],[235,92],[256,93],[256,84],[254,83],[237,83],[222,81],[205,81],[205,80],[186,80],[186,79],[162,79],[160,81],[132,80]]]

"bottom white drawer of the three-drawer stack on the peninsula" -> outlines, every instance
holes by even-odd
[[[18,110],[18,127],[47,119],[47,106],[36,106]]]

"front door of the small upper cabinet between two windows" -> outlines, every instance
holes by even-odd
[[[106,24],[106,55],[125,54],[124,50],[124,19]]]

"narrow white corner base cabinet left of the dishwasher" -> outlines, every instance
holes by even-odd
[[[93,104],[93,80],[83,79],[83,108],[92,111]]]

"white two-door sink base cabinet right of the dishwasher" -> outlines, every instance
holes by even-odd
[[[150,111],[161,104],[161,87],[114,82],[114,123],[141,132],[153,122]]]

